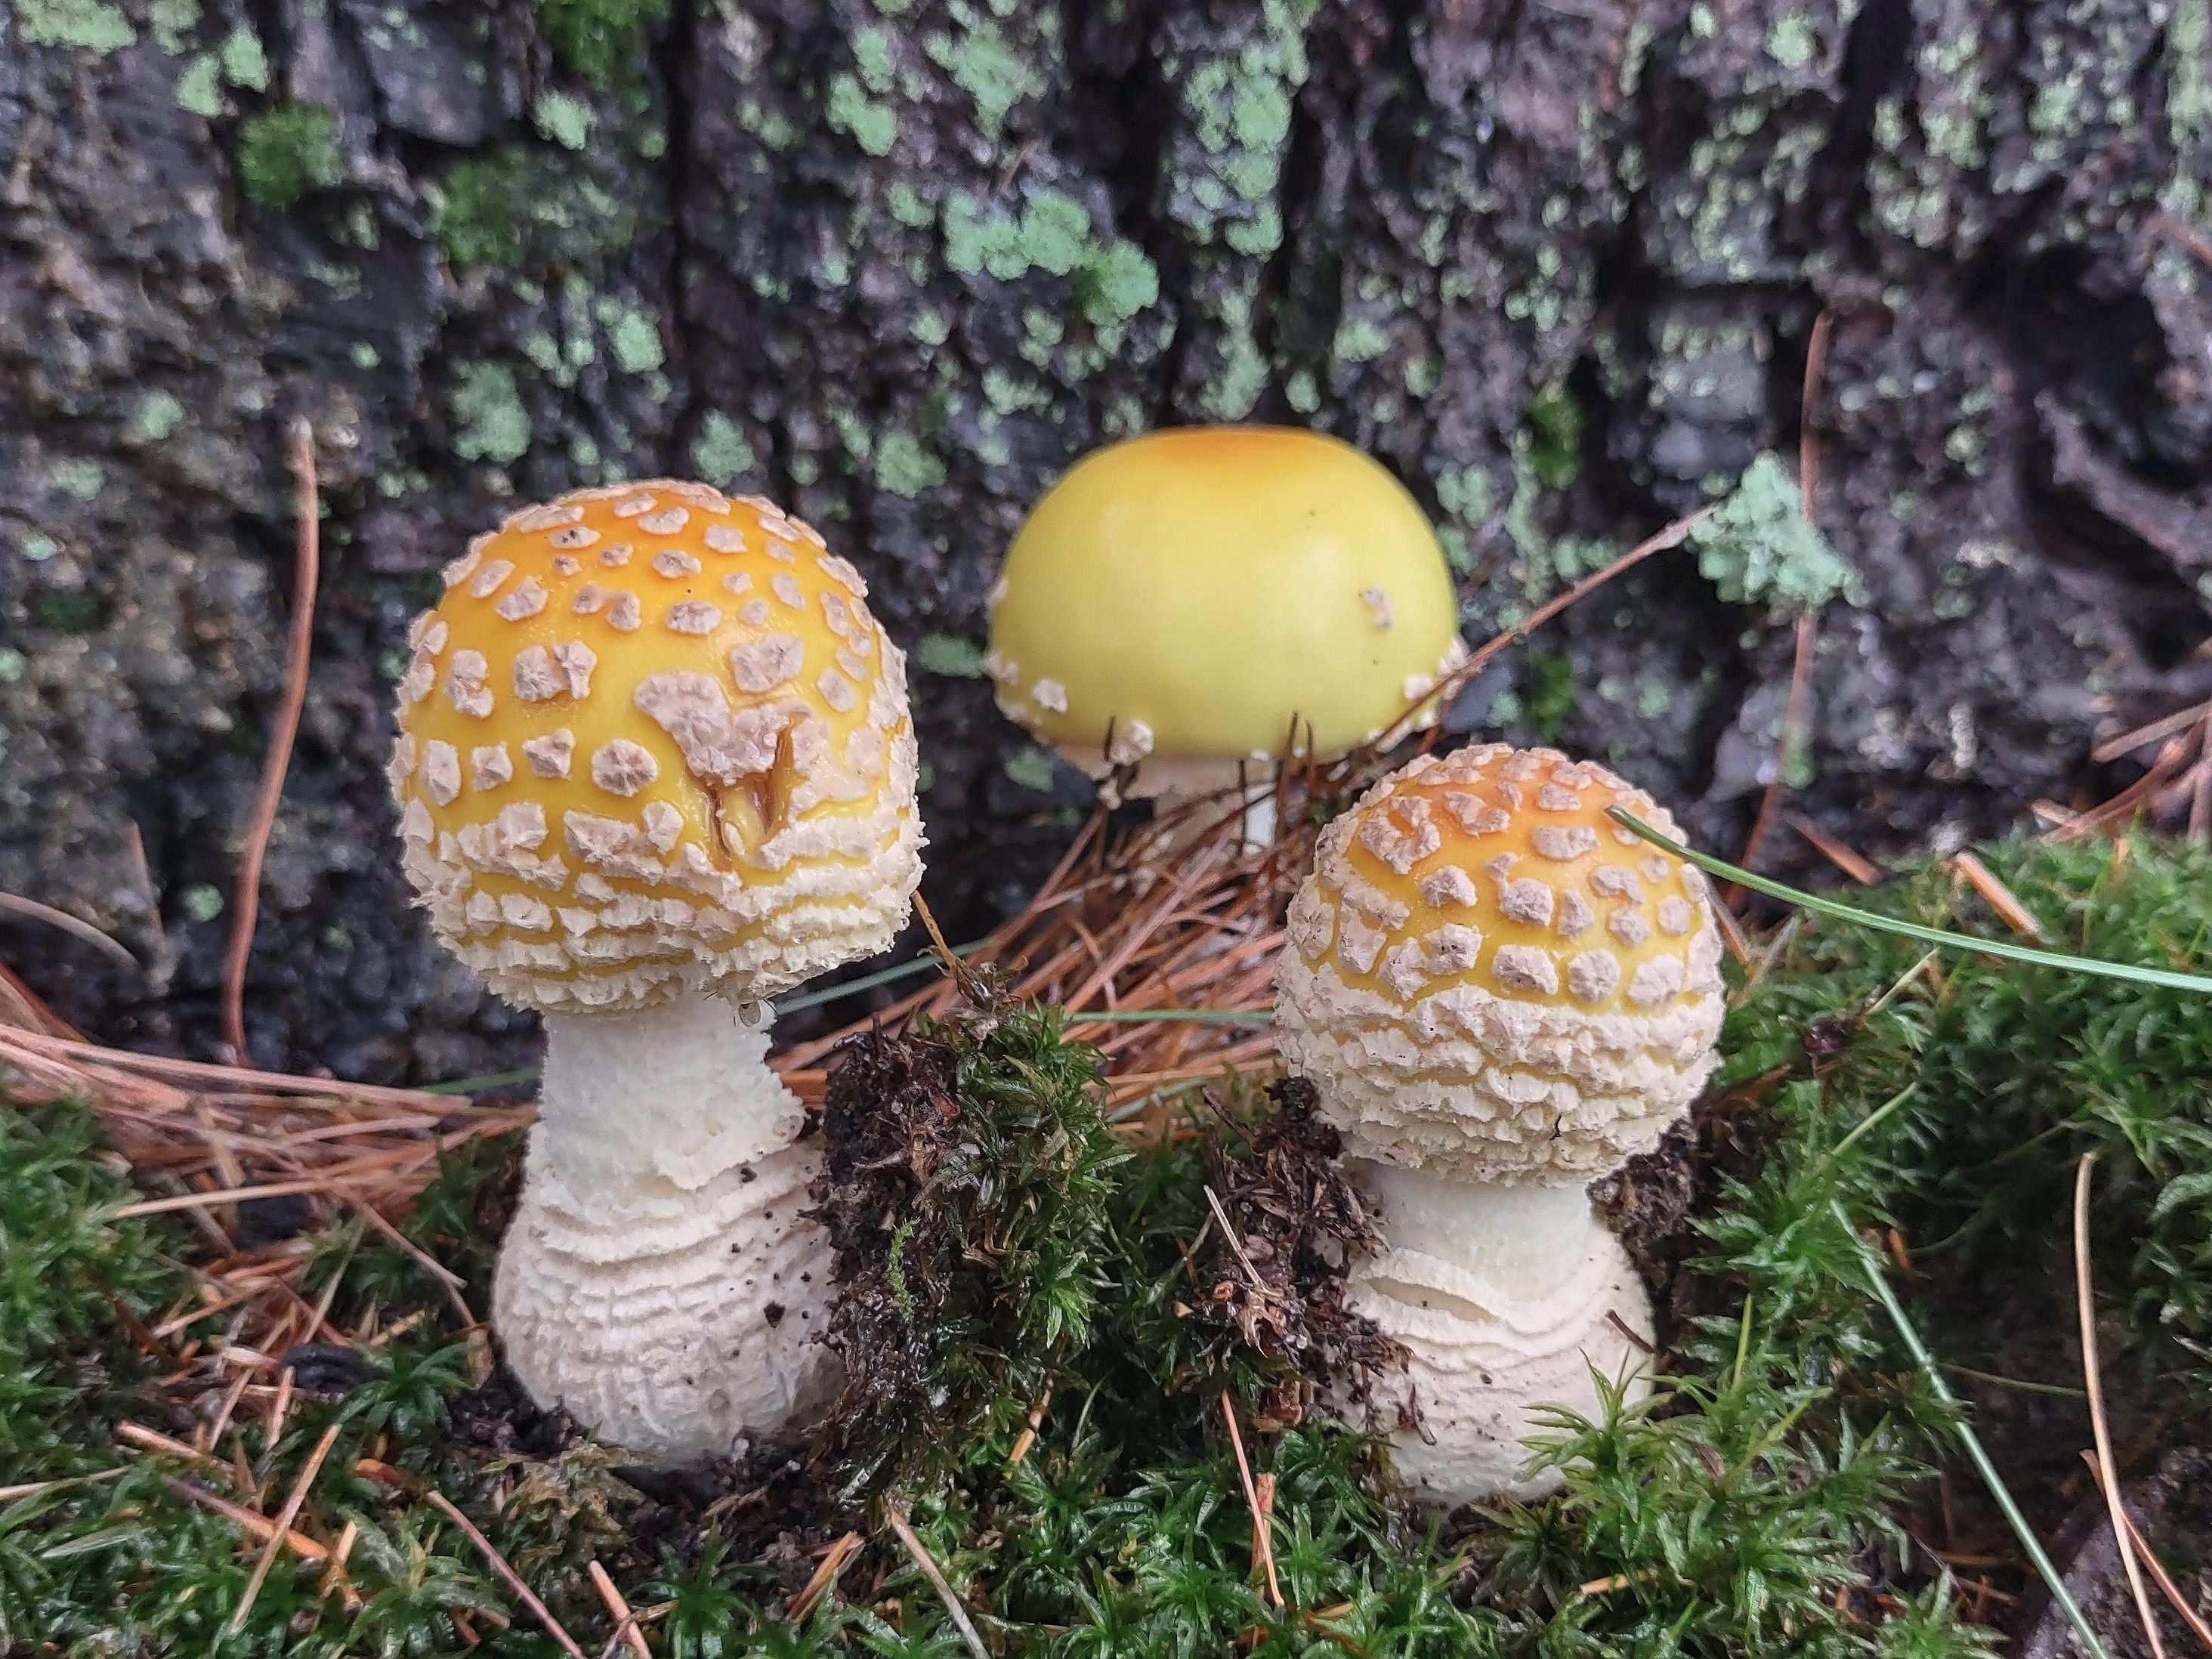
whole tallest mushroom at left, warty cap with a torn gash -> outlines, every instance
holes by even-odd
[[[821,1155],[768,998],[920,878],[905,657],[772,502],[650,480],[511,515],[409,635],[392,790],[438,938],[544,1015],[493,1323],[540,1405],[728,1453],[825,1405]]]

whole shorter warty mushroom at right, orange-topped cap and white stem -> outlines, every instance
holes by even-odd
[[[1276,1042],[1345,1137],[1383,1254],[1347,1301],[1409,1349],[1400,1473],[1460,1504],[1533,1495],[1542,1407],[1648,1389],[1650,1303],[1588,1181],[1650,1150],[1710,1075],[1721,940],[1674,834],[1588,761],[1422,757],[1321,834],[1276,967]]]

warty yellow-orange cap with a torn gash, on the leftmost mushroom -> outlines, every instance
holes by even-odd
[[[509,1002],[776,995],[869,956],[920,878],[900,650],[772,502],[650,480],[513,513],[411,630],[407,876]]]

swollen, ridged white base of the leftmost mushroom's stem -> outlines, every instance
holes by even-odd
[[[531,1150],[493,1327],[533,1400],[664,1462],[728,1455],[827,1409],[830,1234],[805,1214],[818,1148],[723,1170],[648,1219],[595,1214]]]

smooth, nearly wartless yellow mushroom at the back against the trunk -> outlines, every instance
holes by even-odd
[[[1133,770],[1161,814],[1243,790],[1265,845],[1276,757],[1380,737],[1464,657],[1436,531],[1378,462],[1318,431],[1181,427],[1046,491],[984,664],[1006,717],[1091,776]]]

